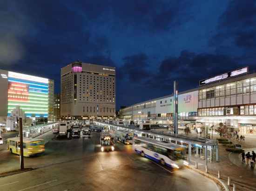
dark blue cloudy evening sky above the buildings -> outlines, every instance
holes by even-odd
[[[1,0],[0,68],[55,80],[76,60],[115,66],[117,109],[256,69],[255,0]]]

